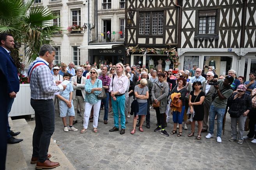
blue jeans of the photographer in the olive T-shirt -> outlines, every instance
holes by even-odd
[[[213,104],[210,107],[209,112],[209,133],[214,133],[214,120],[217,114],[217,137],[221,137],[222,132],[222,121],[225,114],[226,108],[216,108]]]

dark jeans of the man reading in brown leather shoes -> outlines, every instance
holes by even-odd
[[[48,148],[51,135],[55,126],[55,108],[53,99],[30,100],[32,108],[35,110],[35,130],[33,134],[33,154],[38,157],[39,162],[47,160]]]

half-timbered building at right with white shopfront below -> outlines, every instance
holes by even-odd
[[[180,5],[180,69],[213,66],[217,75],[234,69],[248,80],[256,71],[256,0],[182,0]]]

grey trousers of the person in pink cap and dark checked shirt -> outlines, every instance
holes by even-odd
[[[238,122],[238,140],[243,140],[244,124],[246,116],[241,115],[239,118],[231,119],[231,137],[237,139],[237,122]]]

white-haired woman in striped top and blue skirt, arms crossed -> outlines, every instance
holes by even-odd
[[[147,83],[148,83],[147,80],[143,78],[140,80],[139,85],[136,85],[134,87],[134,95],[138,101],[139,109],[138,109],[138,113],[134,113],[133,127],[132,127],[131,134],[135,133],[135,127],[136,127],[136,123],[139,115],[141,115],[139,131],[141,132],[144,131],[142,128],[142,125],[145,120],[145,115],[147,115],[147,110],[148,110],[147,99],[149,97]]]

